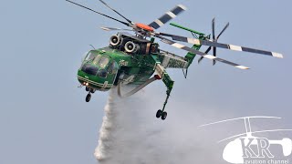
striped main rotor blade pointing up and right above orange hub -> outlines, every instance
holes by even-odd
[[[166,12],[165,15],[162,15],[162,17],[156,19],[154,22],[149,24],[149,26],[158,29],[159,27],[166,24],[168,21],[172,20],[172,18],[180,15],[184,10],[186,10],[186,7],[184,5],[176,5],[171,11]]]

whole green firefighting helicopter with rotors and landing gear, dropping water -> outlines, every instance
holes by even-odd
[[[151,22],[151,24],[146,25],[132,22],[130,19],[124,15],[121,15],[117,10],[102,0],[99,0],[99,2],[110,8],[110,10],[115,12],[117,15],[120,15],[123,19],[125,19],[125,21],[121,21],[110,15],[104,15],[85,5],[80,5],[70,0],[66,1],[96,14],[103,15],[114,21],[120,22],[124,26],[130,27],[126,29],[100,27],[105,31],[120,32],[110,37],[109,46],[89,50],[89,53],[87,53],[82,61],[81,67],[78,68],[78,82],[80,83],[80,87],[85,87],[88,92],[86,102],[90,101],[91,94],[97,90],[108,91],[112,87],[117,87],[118,95],[120,97],[130,97],[152,82],[162,80],[167,87],[166,99],[163,103],[162,109],[159,109],[156,112],[156,118],[162,118],[162,120],[164,120],[167,118],[165,107],[168,103],[174,84],[174,81],[166,72],[166,68],[182,68],[184,77],[187,77],[188,68],[192,65],[194,57],[201,56],[198,60],[199,63],[203,58],[208,58],[213,60],[213,65],[215,65],[216,62],[221,62],[239,69],[249,69],[249,67],[241,66],[217,57],[217,47],[283,58],[282,54],[276,52],[218,43],[217,41],[219,37],[222,36],[226,28],[229,26],[229,23],[224,26],[218,36],[215,36],[214,19],[212,21],[212,38],[211,35],[205,35],[201,32],[174,23],[171,23],[171,25],[191,32],[193,38],[156,31],[177,15],[182,14],[183,11],[187,9],[184,5],[176,5],[172,10],[166,12],[160,18]],[[130,34],[130,32],[134,34]],[[159,48],[160,45],[155,42],[155,38],[161,39],[164,44],[183,49],[187,52],[187,55],[178,56],[171,52],[162,50]],[[178,42],[189,43],[193,46],[183,46]],[[202,52],[199,51],[201,46],[209,47],[206,51]],[[212,49],[213,55],[208,55]],[[121,87],[124,87],[125,85],[133,85],[136,87],[123,94]]]

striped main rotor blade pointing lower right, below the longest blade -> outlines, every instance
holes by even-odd
[[[204,54],[203,52],[201,51],[198,51],[198,50],[195,50],[193,48],[190,48],[188,46],[183,46],[181,44],[178,44],[176,42],[173,42],[172,40],[169,40],[165,37],[162,37],[162,36],[156,36],[158,38],[161,38],[162,39],[162,42],[163,43],[166,43],[168,45],[171,45],[171,46],[174,46],[176,48],[180,48],[180,49],[183,49],[185,51],[188,51],[188,52],[191,52],[193,54],[196,54],[196,55],[199,55],[199,56],[203,56],[203,57],[206,57],[206,58],[209,58],[209,59],[212,59],[212,60],[216,60],[216,61],[219,61],[219,62],[222,62],[224,64],[227,64],[227,65],[231,65],[233,67],[237,67],[237,68],[240,68],[240,69],[249,69],[249,67],[244,67],[244,66],[241,66],[241,65],[237,65],[233,62],[230,62],[230,61],[227,61],[227,60],[224,60],[222,58],[219,58],[219,57],[216,57],[216,56],[211,56],[211,55],[207,55],[207,54]]]

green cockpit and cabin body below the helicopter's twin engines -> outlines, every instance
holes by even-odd
[[[154,67],[150,54],[132,54],[107,46],[89,51],[78,69],[78,81],[100,91],[107,91],[120,81],[140,85],[152,76]]]

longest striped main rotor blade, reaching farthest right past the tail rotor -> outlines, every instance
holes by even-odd
[[[171,36],[173,40],[185,42],[185,43],[190,43],[193,45],[216,46],[216,47],[230,49],[230,50],[234,50],[234,51],[243,51],[243,52],[250,52],[250,53],[255,53],[255,54],[283,58],[282,54],[279,54],[276,52],[271,52],[271,51],[266,51],[266,50],[259,50],[259,49],[255,49],[255,48],[245,47],[245,46],[235,46],[235,45],[222,44],[222,43],[212,42],[209,40],[200,40],[200,39],[196,39],[196,38],[175,36],[175,35],[170,35],[170,34],[165,34],[165,33],[160,33],[160,34],[162,36]]]

